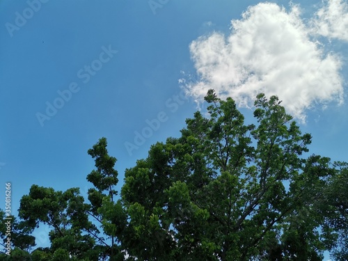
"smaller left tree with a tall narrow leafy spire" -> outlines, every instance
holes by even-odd
[[[87,175],[87,180],[95,186],[88,190],[90,204],[84,202],[78,188],[63,192],[38,185],[33,185],[29,195],[21,199],[19,217],[26,220],[31,231],[40,223],[53,228],[49,232],[51,246],[33,252],[37,260],[45,260],[47,254],[52,256],[49,261],[106,260],[107,257],[124,260],[115,244],[114,224],[108,221],[118,223],[120,220],[119,215],[113,219],[113,209],[120,206],[114,189],[118,182],[118,173],[113,169],[116,158],[107,154],[105,138],[88,150],[88,154],[95,158],[97,168]],[[111,244],[104,235],[110,237]]]

